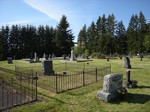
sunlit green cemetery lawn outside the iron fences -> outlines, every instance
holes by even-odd
[[[97,99],[97,92],[102,90],[103,81],[83,86],[60,94],[38,88],[39,101],[15,107],[11,112],[149,112],[150,110],[150,58],[130,59],[131,80],[138,81],[138,87],[127,89],[128,95],[125,99],[106,103]],[[59,63],[54,61],[54,63]],[[88,66],[111,65],[112,73],[123,74],[123,85],[126,79],[126,69],[123,68],[124,60],[113,59],[107,62],[104,59],[94,59],[88,62]],[[9,65],[6,61],[0,62],[0,67],[14,69],[14,65],[40,66],[40,63],[26,64],[14,61]],[[83,65],[83,64],[81,64]],[[7,76],[9,74],[6,74]]]

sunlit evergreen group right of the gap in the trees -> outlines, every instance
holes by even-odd
[[[86,25],[78,35],[77,54],[83,55],[127,55],[150,53],[150,23],[142,12],[131,16],[128,28],[115,16],[103,14],[89,27]]]

